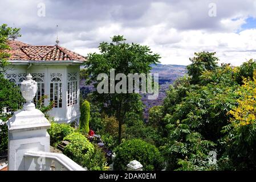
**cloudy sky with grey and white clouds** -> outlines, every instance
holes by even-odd
[[[233,65],[256,59],[255,0],[1,0],[0,12],[0,24],[21,28],[18,40],[53,45],[58,24],[60,46],[85,56],[119,34],[151,47],[162,64],[188,65],[198,51]]]

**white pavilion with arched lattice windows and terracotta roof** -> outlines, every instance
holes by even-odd
[[[79,72],[86,57],[58,46],[31,46],[10,40],[10,65],[5,75],[10,81],[20,84],[31,73],[38,82],[34,103],[47,95],[44,104],[50,101],[55,107],[49,111],[59,123],[79,123]]]

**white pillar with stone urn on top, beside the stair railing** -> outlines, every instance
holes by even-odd
[[[8,169],[10,171],[25,170],[25,157],[27,151],[50,152],[50,136],[47,129],[51,126],[44,114],[35,109],[32,103],[37,90],[37,84],[31,80],[21,83],[22,96],[27,101],[22,110],[14,113],[8,121]]]

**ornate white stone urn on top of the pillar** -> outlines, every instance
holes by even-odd
[[[37,91],[37,83],[36,81],[32,80],[32,76],[27,75],[26,76],[27,80],[24,80],[21,83],[21,93],[22,93],[22,97],[25,98],[25,100],[27,101],[24,105],[23,105],[23,110],[31,110],[35,108],[35,104],[32,103],[33,98],[35,97],[36,91]]]

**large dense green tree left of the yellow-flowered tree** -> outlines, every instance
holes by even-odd
[[[160,148],[167,168],[172,170],[214,170],[233,163],[227,162],[230,154],[225,154],[222,128],[229,125],[226,113],[237,106],[237,68],[229,64],[218,67],[214,53],[196,55],[188,67],[192,77],[170,86],[160,110],[159,118],[167,123],[168,133],[167,142]],[[212,150],[217,151],[218,166],[208,163]]]

